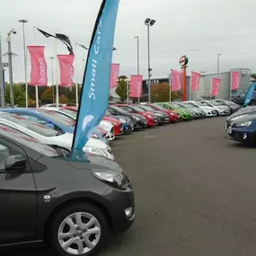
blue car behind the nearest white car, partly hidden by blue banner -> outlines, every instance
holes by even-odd
[[[13,113],[18,116],[21,116],[22,118],[30,119],[48,128],[53,128],[57,130],[59,134],[62,134],[63,132],[74,133],[75,131],[75,122],[72,119],[69,119],[52,110],[6,108],[6,109],[0,109],[0,111]],[[96,128],[94,133],[99,139],[101,139],[104,143],[109,145],[108,139],[102,137],[102,132],[99,129]]]

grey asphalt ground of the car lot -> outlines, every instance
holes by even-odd
[[[256,149],[229,141],[224,124],[191,121],[113,142],[134,184],[137,220],[100,255],[256,254]],[[37,246],[4,255],[54,254]]]

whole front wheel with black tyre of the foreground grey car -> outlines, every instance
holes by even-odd
[[[49,243],[62,256],[94,255],[107,242],[109,226],[98,207],[80,203],[61,210],[49,226]]]

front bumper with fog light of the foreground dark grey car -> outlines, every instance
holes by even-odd
[[[126,191],[110,188],[103,195],[109,202],[112,233],[118,234],[126,231],[135,220],[135,201],[132,189]]]

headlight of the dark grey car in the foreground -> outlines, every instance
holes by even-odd
[[[92,173],[95,178],[109,184],[111,187],[118,190],[128,189],[128,179],[125,174],[102,170],[92,170]]]

